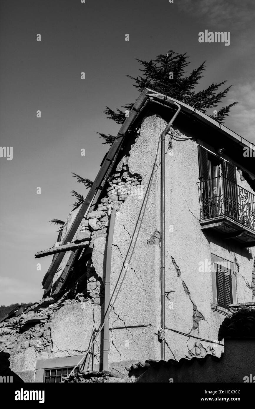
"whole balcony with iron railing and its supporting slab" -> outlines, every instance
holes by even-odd
[[[201,229],[255,246],[255,194],[224,176],[198,182]]]

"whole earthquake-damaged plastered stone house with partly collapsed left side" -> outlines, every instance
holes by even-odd
[[[121,373],[135,382],[138,362],[220,365],[221,324],[232,308],[255,308],[247,148],[255,146],[214,119],[145,88],[54,247],[36,253],[53,255],[43,299],[0,323],[11,369],[25,382],[61,382],[114,368],[108,381]]]

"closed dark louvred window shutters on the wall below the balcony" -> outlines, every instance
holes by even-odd
[[[217,263],[215,267],[218,305],[229,310],[233,303],[231,270]]]

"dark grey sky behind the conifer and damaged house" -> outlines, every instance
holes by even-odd
[[[96,131],[120,128],[105,106],[138,97],[125,76],[139,74],[135,58],[187,52],[189,71],[206,60],[200,88],[235,85],[224,105],[239,104],[226,126],[255,142],[255,7],[254,0],[1,0],[0,9],[0,141],[13,147],[13,160],[0,158],[0,304],[7,305],[41,298],[51,257],[34,253],[54,245],[48,220],[66,219],[70,191],[86,196],[72,172],[95,178],[108,150]],[[230,31],[230,45],[199,43],[205,29]]]

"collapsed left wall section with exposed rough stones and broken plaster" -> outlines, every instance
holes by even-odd
[[[117,171],[108,180],[105,196],[99,200],[96,209],[83,218],[80,231],[74,238],[75,242],[87,243],[81,255],[85,261],[85,273],[79,277],[76,285],[69,288],[61,299],[43,299],[17,317],[0,324],[0,350],[10,353],[14,369],[27,382],[34,380],[37,360],[82,354],[89,347],[92,334],[100,326],[104,303],[104,248],[109,216],[112,209],[120,211],[128,196],[140,200],[143,195],[142,178],[140,174],[129,171],[127,161],[128,154],[122,158]],[[117,244],[115,246],[117,248]],[[58,277],[55,283],[60,279]],[[124,321],[120,317],[116,319],[114,310],[112,315],[112,322],[120,319],[123,325]],[[96,369],[99,369],[100,362],[99,345],[100,337],[93,348]]]

